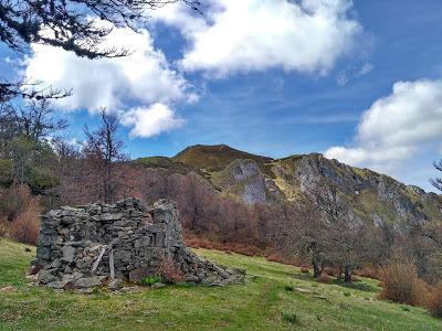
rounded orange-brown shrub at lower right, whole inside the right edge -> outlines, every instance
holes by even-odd
[[[411,306],[425,306],[429,286],[418,277],[415,266],[393,261],[380,273],[382,290],[380,298]]]

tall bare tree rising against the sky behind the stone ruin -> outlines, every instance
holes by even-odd
[[[115,199],[116,182],[114,179],[114,164],[127,159],[123,153],[124,142],[118,139],[119,119],[115,114],[102,108],[101,126],[95,131],[84,129],[86,142],[83,153],[93,166],[96,180],[99,184],[98,196],[105,203],[112,203]]]

